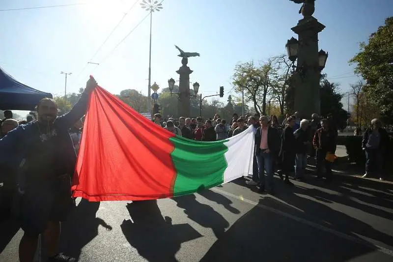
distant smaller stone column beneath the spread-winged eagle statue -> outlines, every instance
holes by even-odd
[[[179,74],[179,116],[190,117],[190,74],[193,70],[187,66],[188,59],[181,59],[182,66],[176,73]]]

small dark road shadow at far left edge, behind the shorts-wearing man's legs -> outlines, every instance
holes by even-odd
[[[0,210],[0,253],[19,231],[19,223],[9,210]]]

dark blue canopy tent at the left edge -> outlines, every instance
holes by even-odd
[[[53,98],[50,93],[18,82],[0,67],[0,110],[34,110],[44,97]]]

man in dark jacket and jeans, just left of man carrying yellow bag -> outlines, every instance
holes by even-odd
[[[309,142],[309,120],[300,121],[300,128],[295,131],[295,179],[302,180],[307,166],[307,149]]]

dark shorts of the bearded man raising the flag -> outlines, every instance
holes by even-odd
[[[65,221],[72,209],[70,177],[28,183],[24,194],[17,194],[14,212],[27,234],[43,233],[48,222]]]

